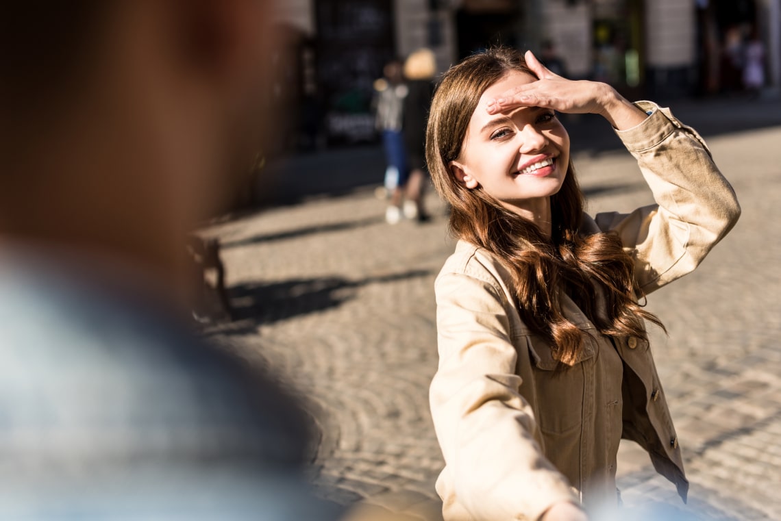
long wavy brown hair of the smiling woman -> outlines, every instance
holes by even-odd
[[[551,196],[550,239],[482,187],[466,188],[451,171],[480,96],[510,71],[537,77],[522,54],[508,48],[470,56],[444,74],[431,103],[426,163],[437,192],[451,204],[453,235],[501,259],[512,273],[522,320],[547,338],[560,363],[571,366],[583,350],[583,331],[563,314],[564,295],[603,335],[647,338],[643,319],[664,326],[637,303],[634,264],[619,236],[580,233],[584,200],[572,161],[561,190]],[[604,295],[605,313],[597,313],[597,293]]]

